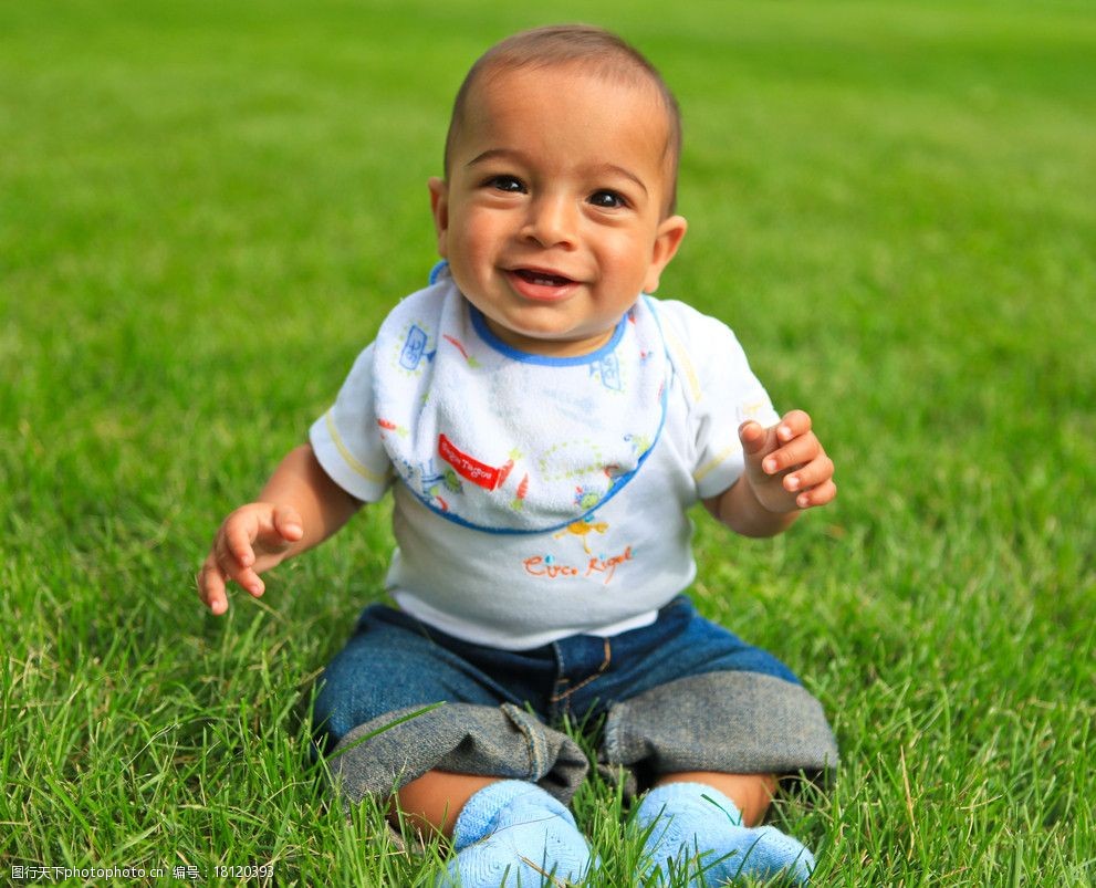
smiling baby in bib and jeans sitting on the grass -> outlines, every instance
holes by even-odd
[[[833,734],[786,666],[683,595],[686,512],[777,534],[834,498],[833,463],[723,324],[649,295],[686,233],[680,144],[672,94],[613,34],[489,50],[429,182],[446,261],[201,568],[223,614],[229,581],[262,595],[263,572],[392,489],[395,606],[362,614],[315,719],[344,797],[449,836],[465,888],[598,865],[566,807],[588,762],[565,723],[638,793],[639,877],[814,865],[758,824],[782,776],[835,766]]]

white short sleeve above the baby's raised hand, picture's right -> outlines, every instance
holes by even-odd
[[[780,416],[753,375],[745,352],[721,321],[683,303],[669,303],[668,345],[690,401],[692,478],[701,499],[733,484],[745,466],[739,426],[754,419],[772,426]]]

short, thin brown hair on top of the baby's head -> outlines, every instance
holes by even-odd
[[[449,175],[453,144],[465,119],[465,107],[472,87],[484,76],[499,72],[555,65],[582,65],[598,76],[624,80],[654,87],[666,111],[666,157],[670,168],[667,215],[677,203],[677,171],[681,156],[681,111],[662,75],[635,46],[622,38],[588,24],[552,24],[521,31],[495,43],[469,69],[453,101],[446,135],[445,171]]]

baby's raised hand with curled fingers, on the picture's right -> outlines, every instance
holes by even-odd
[[[811,417],[791,410],[775,426],[748,420],[739,427],[745,479],[770,512],[825,505],[837,495],[834,463],[811,430]]]

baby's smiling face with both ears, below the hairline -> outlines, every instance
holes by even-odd
[[[654,292],[686,229],[664,215],[667,128],[654,90],[576,66],[473,87],[448,181],[430,192],[438,249],[499,338],[592,352]]]

